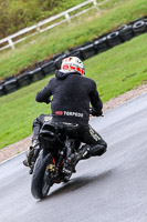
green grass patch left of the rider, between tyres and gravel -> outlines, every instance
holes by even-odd
[[[46,82],[44,79],[0,98],[0,148],[28,137],[32,131],[33,119],[40,113],[50,112],[48,105],[35,102],[38,89]]]

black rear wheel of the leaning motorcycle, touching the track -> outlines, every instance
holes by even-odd
[[[53,163],[53,158],[49,153],[43,157],[43,151],[40,153],[33,170],[31,193],[35,199],[46,198],[50,188],[52,186],[52,180],[50,172],[46,170],[49,164]]]

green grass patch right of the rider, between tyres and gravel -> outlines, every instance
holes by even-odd
[[[104,102],[146,82],[146,44],[144,34],[87,60],[87,73],[97,82]]]

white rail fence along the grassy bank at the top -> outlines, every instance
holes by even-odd
[[[75,6],[75,7],[73,7],[73,8],[71,8],[69,10],[64,11],[64,12],[62,12],[62,13],[53,16],[53,17],[51,17],[49,19],[43,20],[43,21],[40,21],[39,23],[36,23],[36,24],[32,26],[32,27],[22,29],[22,30],[15,32],[14,34],[11,34],[11,36],[9,36],[9,37],[7,37],[4,39],[1,39],[0,40],[0,46],[2,46],[2,47],[0,47],[0,51],[2,51],[4,49],[8,49],[8,48],[11,48],[12,50],[14,50],[14,44],[17,44],[17,43],[19,43],[21,41],[24,41],[28,37],[34,36],[36,33],[44,32],[46,30],[50,30],[50,29],[52,29],[52,28],[54,28],[54,27],[56,27],[56,26],[59,26],[59,24],[61,24],[63,22],[71,22],[71,19],[74,19],[75,17],[78,17],[78,16],[81,16],[81,14],[83,14],[83,13],[87,12],[88,10],[94,9],[94,8],[96,10],[99,10],[98,7],[104,4],[104,3],[106,3],[106,2],[108,2],[108,1],[111,1],[111,0],[105,0],[103,2],[97,3],[96,0],[87,0],[87,1],[85,1],[83,3],[80,3],[80,4],[77,4],[77,6]],[[73,16],[70,16],[71,12],[76,11],[76,10],[78,10],[78,9],[85,7],[85,6],[88,6],[88,4],[92,4],[92,6],[90,8],[87,8],[87,9],[84,9],[84,10],[73,14]],[[62,17],[63,17],[63,19],[62,19]],[[55,22],[55,20],[60,19],[60,18],[62,20],[59,21],[59,22]],[[53,22],[53,23],[48,26],[48,23],[50,23],[50,22]],[[43,26],[46,26],[46,27],[43,28]],[[32,32],[32,33],[30,33],[30,32]],[[17,38],[19,38],[19,39],[17,40]]]

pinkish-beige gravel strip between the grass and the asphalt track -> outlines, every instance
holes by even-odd
[[[118,95],[117,98],[111,99],[108,102],[104,103],[103,112],[114,109],[133,98],[147,93],[147,84],[143,84],[139,88],[135,88],[124,94]],[[11,145],[6,147],[4,149],[0,150],[0,162],[3,162],[28,149],[31,145],[31,138],[32,135],[20,140]]]

